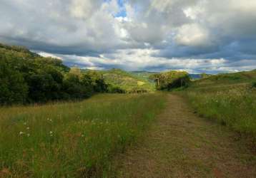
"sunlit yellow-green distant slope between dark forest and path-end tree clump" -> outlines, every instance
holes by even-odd
[[[154,90],[154,83],[150,83],[147,78],[135,75],[134,73],[119,69],[105,70],[102,73],[107,83],[122,88],[127,92],[131,92],[134,89]]]

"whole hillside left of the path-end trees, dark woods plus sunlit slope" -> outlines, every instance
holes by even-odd
[[[94,93],[150,92],[154,83],[149,74],[69,68],[60,59],[0,43],[0,105],[77,100]]]

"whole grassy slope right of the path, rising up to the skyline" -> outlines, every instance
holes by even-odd
[[[200,115],[219,121],[256,140],[256,71],[212,75],[197,80],[187,97]]]

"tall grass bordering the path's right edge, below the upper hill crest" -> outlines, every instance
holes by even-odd
[[[256,90],[249,85],[228,88],[192,88],[186,92],[200,115],[252,138],[256,144]],[[256,145],[255,145],[256,147]]]

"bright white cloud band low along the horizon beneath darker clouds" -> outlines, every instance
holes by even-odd
[[[75,55],[59,55],[53,54],[62,58],[64,63],[71,66],[79,66],[89,69],[110,69],[123,68],[125,70],[187,70],[189,73],[202,73],[207,70],[208,73],[217,72],[234,72],[237,66],[243,70],[256,68],[255,61],[245,60],[242,62],[230,63],[224,58],[159,58],[154,57],[159,50],[154,49],[124,49],[118,50],[115,53],[102,53],[98,57],[75,56]],[[49,56],[49,54],[47,54]],[[122,58],[122,60],[119,60]],[[136,66],[134,66],[136,63]],[[241,63],[244,66],[241,66]],[[253,65],[252,65],[253,63]]]

